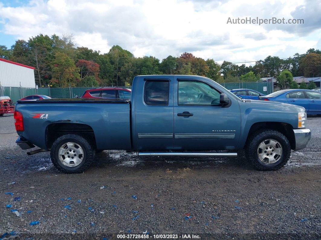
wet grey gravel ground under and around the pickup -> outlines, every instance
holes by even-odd
[[[320,126],[321,116],[308,117],[308,147],[292,152],[279,171],[256,171],[240,158],[143,161],[134,153],[104,151],[83,174],[62,174],[49,153],[28,156],[30,150],[15,144],[13,116],[5,115],[0,239],[11,231],[21,239],[117,239],[144,231],[150,238],[320,239]]]

